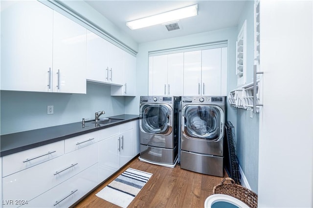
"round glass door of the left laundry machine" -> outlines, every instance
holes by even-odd
[[[142,107],[141,127],[146,133],[169,134],[171,133],[170,106],[164,104],[147,104]]]

